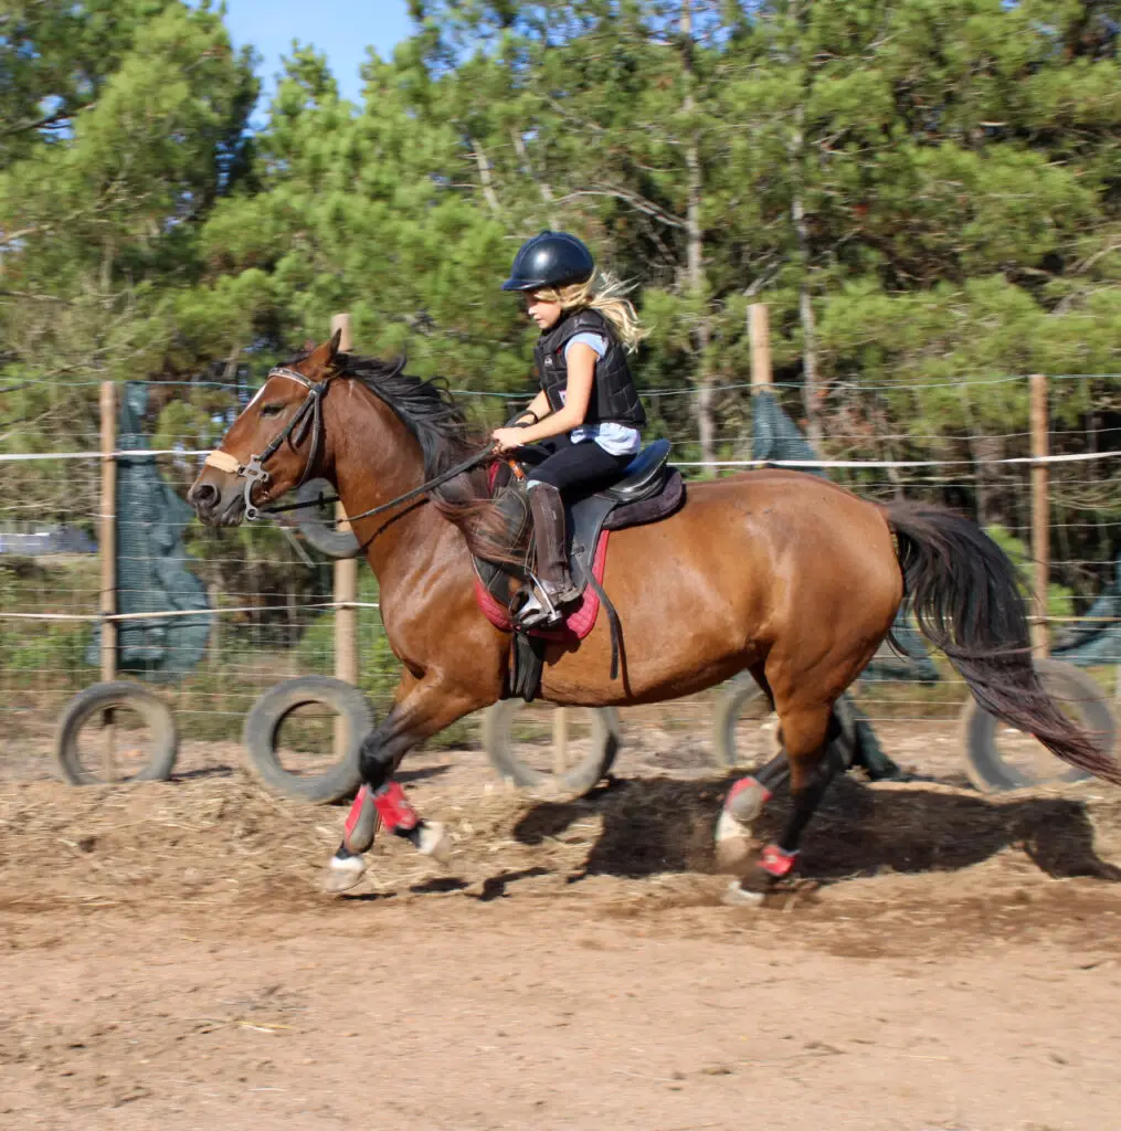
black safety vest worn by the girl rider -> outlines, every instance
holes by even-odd
[[[569,314],[537,339],[533,354],[549,407],[559,412],[563,406],[561,394],[568,386],[564,347],[577,334],[597,334],[607,340],[607,352],[595,363],[595,381],[584,423],[641,428],[646,423],[646,413],[638,399],[635,379],[630,375],[627,351],[615,337],[612,325],[597,310]]]

